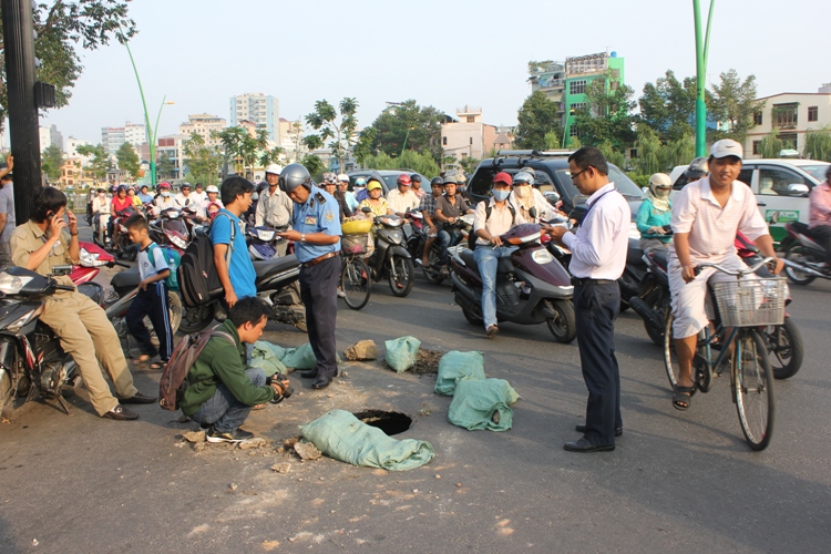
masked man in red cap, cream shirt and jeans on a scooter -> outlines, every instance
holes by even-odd
[[[507,258],[516,246],[506,246],[500,238],[516,225],[516,208],[509,201],[511,194],[511,175],[497,173],[493,176],[491,199],[476,204],[473,216],[473,232],[476,234],[476,259],[479,275],[482,277],[482,319],[488,338],[499,332],[496,327],[496,269],[499,258]]]

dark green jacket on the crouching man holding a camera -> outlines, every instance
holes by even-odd
[[[189,387],[179,402],[182,413],[193,416],[216,393],[217,386],[225,384],[234,398],[247,406],[268,402],[274,398],[274,389],[269,386],[255,387],[245,375],[245,346],[239,341],[236,327],[226,319],[219,328],[234,337],[232,345],[225,337],[214,337],[208,340],[205,349],[196,358],[196,362],[187,372]]]

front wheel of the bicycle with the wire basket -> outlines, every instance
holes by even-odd
[[[773,437],[773,372],[759,332],[739,332],[733,363],[732,388],[741,431],[752,450],[765,450]]]

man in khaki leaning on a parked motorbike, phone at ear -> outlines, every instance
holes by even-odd
[[[54,266],[78,264],[78,220],[72,212],[66,212],[66,196],[58,188],[41,187],[32,198],[31,214],[29,222],[20,225],[11,236],[14,265],[48,276],[53,274]],[[55,280],[72,286],[69,276],[59,276]],[[90,402],[99,416],[134,420],[138,414],[122,403],[156,401],[155,396],[142,394],[133,386],[133,376],[115,329],[104,310],[86,295],[78,290],[59,290],[45,297],[40,320],[54,331],[63,350],[75,360],[90,392]],[[78,325],[79,320],[81,325]],[[102,366],[115,386],[117,398],[110,392]]]

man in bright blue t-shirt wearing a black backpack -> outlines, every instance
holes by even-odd
[[[254,185],[243,177],[223,181],[220,195],[225,207],[211,225],[214,264],[225,289],[228,309],[240,298],[257,296],[257,274],[245,244],[245,224],[239,218],[252,205]]]

